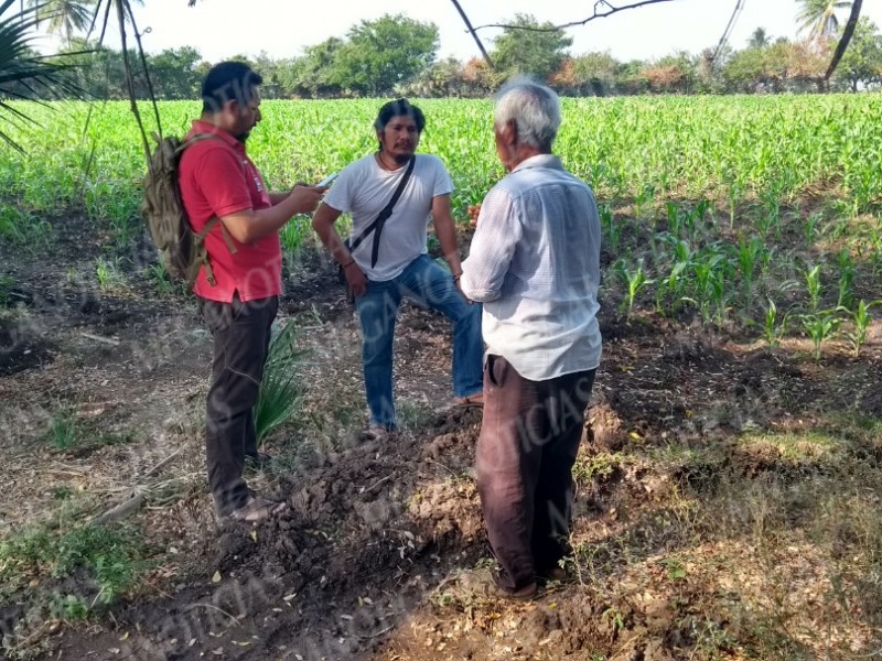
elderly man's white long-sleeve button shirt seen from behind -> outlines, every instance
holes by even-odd
[[[531,381],[598,367],[600,240],[594,194],[552,154],[487,193],[460,284],[484,303],[488,354]]]

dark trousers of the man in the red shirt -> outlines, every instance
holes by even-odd
[[[214,338],[205,419],[208,485],[218,513],[226,516],[249,497],[241,473],[246,455],[257,455],[254,407],[279,302],[271,296],[243,303],[237,295],[233,303],[198,303]]]

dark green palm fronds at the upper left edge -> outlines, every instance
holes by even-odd
[[[66,69],[74,66],[69,61],[58,62],[31,48],[37,23],[36,11],[29,8],[10,12],[15,2],[0,2],[0,140],[21,151],[2,127],[32,120],[10,101],[40,101],[57,96],[80,98],[83,91],[65,75]]]

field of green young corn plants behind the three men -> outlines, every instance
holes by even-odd
[[[492,104],[420,105],[420,150],[447,163],[465,220],[504,174]],[[265,101],[249,151],[272,189],[319,181],[376,149],[378,106]],[[132,241],[144,156],[129,105],[17,107],[37,126],[10,131],[24,155],[0,150],[0,236],[39,246],[76,213]],[[198,110],[160,104],[164,132],[182,134]],[[564,99],[556,152],[598,195],[609,297],[630,319],[735,325],[770,344],[795,333],[818,358],[848,337],[859,353],[882,268],[881,116],[871,94]],[[295,219],[286,247],[309,234]]]

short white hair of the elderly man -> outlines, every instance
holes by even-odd
[[[494,123],[501,130],[509,121],[515,122],[520,142],[550,150],[560,128],[560,99],[529,78],[509,80],[496,93]]]

